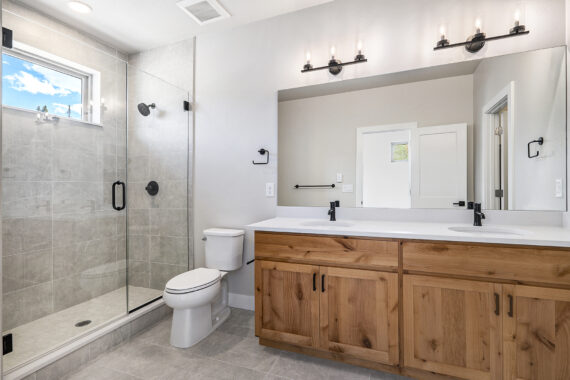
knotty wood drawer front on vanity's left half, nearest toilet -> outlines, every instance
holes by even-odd
[[[398,241],[258,231],[255,233],[255,257],[396,271]]]

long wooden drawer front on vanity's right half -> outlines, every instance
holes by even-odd
[[[403,243],[404,271],[570,286],[570,250],[490,244]]]

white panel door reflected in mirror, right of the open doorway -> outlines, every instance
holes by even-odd
[[[467,202],[467,124],[412,133],[412,207],[461,207],[454,203]]]

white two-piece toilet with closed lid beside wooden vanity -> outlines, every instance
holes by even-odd
[[[242,266],[243,230],[204,230],[206,267],[196,268],[170,279],[164,302],[174,309],[170,344],[188,348],[214,331],[230,316],[225,276]]]

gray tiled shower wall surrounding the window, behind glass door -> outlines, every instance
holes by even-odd
[[[3,328],[125,285],[125,216],[111,208],[124,178],[126,64],[121,53],[4,0],[14,39],[101,72],[101,125],[4,109]],[[20,17],[23,16],[23,17]],[[96,49],[95,49],[96,48]]]

